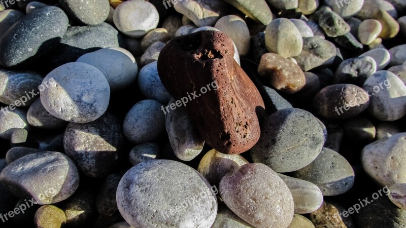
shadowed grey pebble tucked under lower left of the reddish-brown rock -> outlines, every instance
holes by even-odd
[[[193,126],[186,107],[178,106],[181,101],[177,102],[172,99],[169,104],[171,109],[172,106],[176,105],[176,109],[165,113],[166,132],[172,149],[180,160],[191,161],[203,150],[205,140],[200,137],[197,129]]]

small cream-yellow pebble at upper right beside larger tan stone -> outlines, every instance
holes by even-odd
[[[358,39],[364,45],[369,45],[381,34],[382,25],[374,19],[362,21],[358,26]]]

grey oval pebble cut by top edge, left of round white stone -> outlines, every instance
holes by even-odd
[[[77,0],[58,0],[59,5],[76,21],[86,25],[97,25],[109,16],[108,0],[89,1],[83,4]]]

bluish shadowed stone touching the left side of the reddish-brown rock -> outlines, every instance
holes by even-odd
[[[157,61],[141,68],[138,75],[138,88],[146,98],[157,100],[162,104],[167,104],[172,98],[159,78]]]

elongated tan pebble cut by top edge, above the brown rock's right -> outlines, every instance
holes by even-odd
[[[272,12],[265,0],[224,0],[236,9],[243,12],[256,22],[268,25],[272,21]]]

